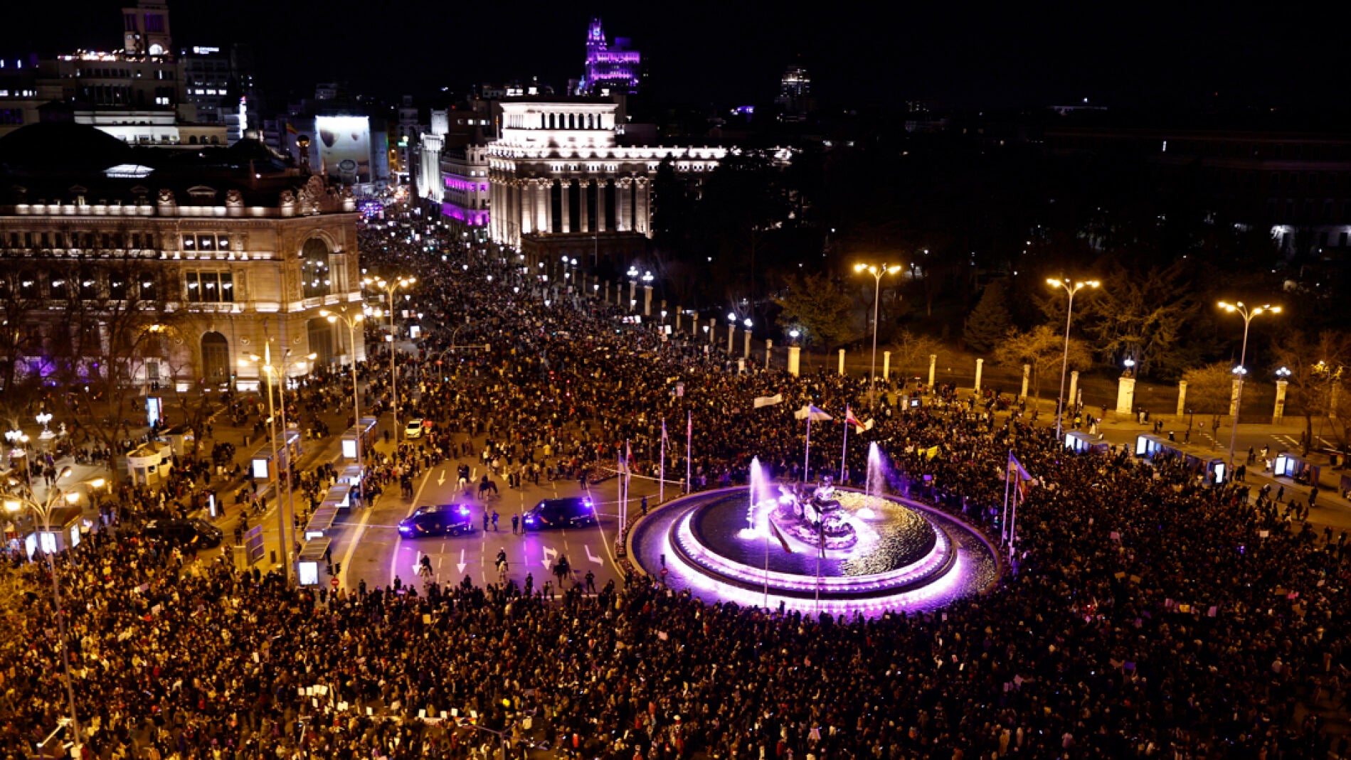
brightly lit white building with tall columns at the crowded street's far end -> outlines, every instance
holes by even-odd
[[[490,238],[554,255],[642,252],[651,238],[651,181],[663,159],[697,181],[727,155],[723,147],[624,144],[617,104],[515,100],[500,104],[488,146]]]

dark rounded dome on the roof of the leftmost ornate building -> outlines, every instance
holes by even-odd
[[[130,148],[88,124],[41,121],[0,138],[0,171],[101,171],[124,163]]]

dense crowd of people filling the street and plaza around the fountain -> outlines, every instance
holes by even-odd
[[[874,418],[851,431],[852,479],[877,441],[894,490],[992,536],[1016,452],[1038,478],[1016,572],[874,618],[711,605],[639,575],[596,593],[566,578],[328,593],[193,563],[113,521],[55,558],[88,756],[1348,756],[1323,718],[1351,699],[1344,541],[1270,491],[1124,451],[1071,455],[996,397],[924,389],[911,406],[888,387],[871,410],[857,378],[731,373],[694,336],[546,293],[511,251],[453,251],[451,269],[384,225],[362,231],[362,250],[366,266],[415,273],[423,324],[440,325],[399,377],[399,418],[424,416],[432,433],[376,462],[376,478],[443,456],[603,477],[630,451],[654,472],[663,421],[667,477],[689,456],[696,487],[742,482],[753,456],[815,478],[836,472],[843,427],[815,427],[804,472],[790,412],[851,406]],[[489,348],[447,351],[470,342]],[[361,369],[373,412],[393,405],[378,366]],[[754,406],[774,394],[784,404]],[[0,630],[12,757],[69,713],[42,589]]]

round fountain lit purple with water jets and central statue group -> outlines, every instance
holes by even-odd
[[[885,495],[886,460],[869,448],[863,491],[775,483],[753,460],[747,486],[693,494],[644,518],[635,559],[708,601],[800,612],[917,610],[988,589],[990,545],[963,522]]]

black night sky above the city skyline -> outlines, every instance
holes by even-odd
[[[170,0],[170,18],[177,47],[257,46],[272,92],[338,80],[393,97],[531,74],[562,85],[580,74],[586,23],[598,13],[611,36],[632,38],[655,94],[673,101],[767,100],[797,55],[816,94],[839,105],[1197,104],[1216,92],[1231,105],[1312,105],[1347,96],[1335,43],[1300,12],[1209,3],[992,5]],[[118,47],[120,7],[5,3],[0,55]]]

